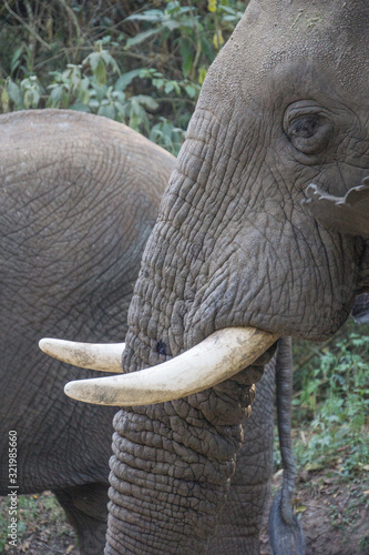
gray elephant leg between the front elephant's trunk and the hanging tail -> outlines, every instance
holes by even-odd
[[[273,473],[274,387],[281,341],[284,339],[279,340],[277,353],[256,384],[252,415],[243,424],[244,443],[237,454],[236,472],[208,555],[258,555],[260,552],[259,535]]]

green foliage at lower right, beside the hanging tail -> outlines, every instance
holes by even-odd
[[[360,332],[360,333],[359,333]],[[335,340],[300,344],[295,373],[295,454],[300,466],[329,466],[344,475],[369,471],[369,336],[347,325]],[[306,356],[306,353],[308,355]]]

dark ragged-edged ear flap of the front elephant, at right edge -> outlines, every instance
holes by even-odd
[[[303,202],[319,223],[340,233],[369,238],[369,176],[346,196],[324,193],[314,184],[307,188],[306,194]]]

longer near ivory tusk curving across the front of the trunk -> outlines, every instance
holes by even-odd
[[[99,405],[163,403],[207,390],[249,366],[278,335],[256,327],[227,327],[157,366],[121,376],[80,380],[65,385],[72,398]]]

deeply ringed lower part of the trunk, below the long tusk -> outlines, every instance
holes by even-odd
[[[106,554],[206,552],[254,401],[254,385],[243,381],[247,373],[116,414]]]

